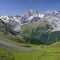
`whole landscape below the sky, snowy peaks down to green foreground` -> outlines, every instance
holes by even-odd
[[[23,16],[0,16],[0,57],[60,60],[59,20],[59,11],[40,14],[29,10]]]

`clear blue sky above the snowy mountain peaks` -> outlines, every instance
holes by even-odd
[[[0,0],[0,15],[22,15],[29,9],[60,11],[60,0]]]

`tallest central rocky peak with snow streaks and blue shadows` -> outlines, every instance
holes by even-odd
[[[42,14],[38,13],[38,11],[29,10],[25,15],[23,15],[20,19],[21,23],[31,23],[40,20],[43,17]]]

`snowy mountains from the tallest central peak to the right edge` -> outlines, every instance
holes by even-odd
[[[46,11],[40,14],[37,11],[29,10],[20,19],[21,24],[29,24],[32,22],[37,22],[39,20],[46,20],[53,26],[52,31],[60,31],[60,12],[59,11]]]

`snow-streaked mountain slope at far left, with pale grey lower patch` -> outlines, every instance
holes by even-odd
[[[0,16],[0,19],[5,22],[6,24],[10,25],[11,28],[16,31],[21,31],[21,22],[19,21],[21,17],[20,16]]]

